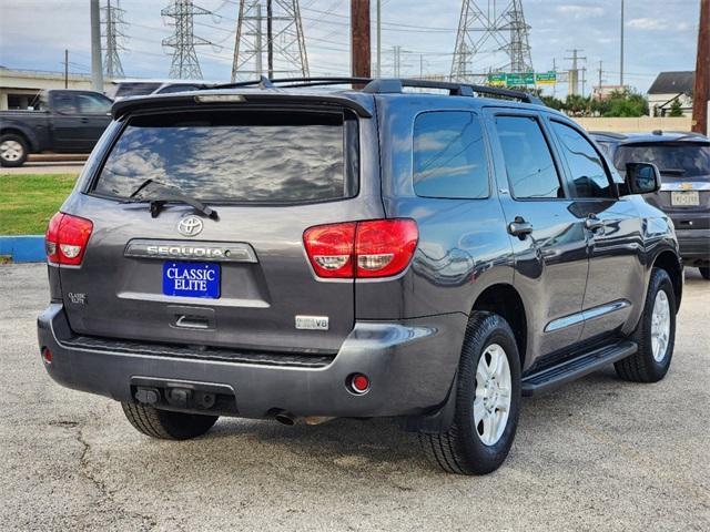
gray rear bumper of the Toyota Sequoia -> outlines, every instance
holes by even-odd
[[[44,367],[62,386],[133,401],[141,380],[192,382],[229,389],[236,415],[381,417],[427,412],[450,389],[466,328],[466,316],[449,314],[400,323],[358,321],[333,361],[321,368],[199,360],[140,352],[70,347],[63,306],[51,304],[38,318],[41,348],[52,352]],[[362,396],[346,388],[362,372],[371,389]],[[204,412],[209,413],[209,412]]]

